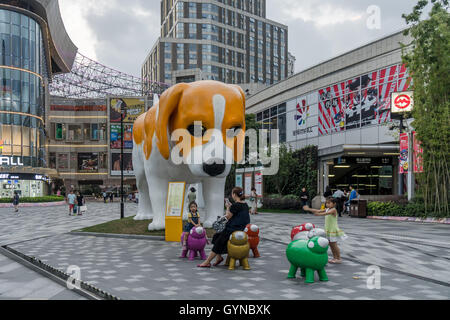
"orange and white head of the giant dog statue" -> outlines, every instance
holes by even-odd
[[[156,137],[165,159],[183,159],[196,176],[226,177],[244,153],[243,90],[217,81],[169,88],[156,111]]]

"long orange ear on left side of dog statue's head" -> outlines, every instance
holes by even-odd
[[[169,137],[168,127],[169,120],[174,111],[178,108],[178,103],[183,95],[184,90],[189,88],[187,83],[179,83],[167,89],[159,99],[159,109],[156,119],[156,137],[157,145],[161,155],[167,160],[169,159]]]

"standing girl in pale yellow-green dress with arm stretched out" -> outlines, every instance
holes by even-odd
[[[325,216],[325,233],[330,242],[331,252],[333,253],[333,259],[328,260],[329,263],[342,263],[341,252],[337,242],[347,238],[344,231],[339,229],[337,224],[338,212],[336,210],[336,203],[335,198],[328,197],[325,203],[325,210],[311,209],[308,206],[303,207],[305,211],[314,213],[315,216]]]

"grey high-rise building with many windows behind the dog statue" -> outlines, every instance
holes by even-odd
[[[270,85],[288,76],[288,28],[266,0],[162,0],[161,37],[142,66],[149,82]]]

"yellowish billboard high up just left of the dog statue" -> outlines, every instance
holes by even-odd
[[[125,110],[123,122],[133,123],[145,112],[144,98],[112,98],[110,99],[110,122],[120,122],[121,108]]]

